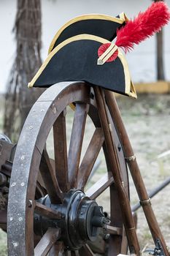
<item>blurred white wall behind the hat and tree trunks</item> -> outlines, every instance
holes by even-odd
[[[47,49],[56,31],[69,19],[85,13],[103,13],[116,16],[125,12],[128,18],[134,18],[139,11],[144,11],[150,5],[150,0],[43,0],[42,10],[42,59],[47,57]],[[170,5],[170,0],[166,3]],[[0,91],[5,91],[9,69],[15,57],[16,42],[12,28],[15,23],[17,1],[0,0],[0,31],[1,31],[1,59],[0,59]],[[163,56],[165,62],[165,76],[170,80],[170,24],[165,27],[163,35]],[[152,37],[135,50],[128,53],[127,59],[134,82],[151,82],[156,80],[156,36]]]

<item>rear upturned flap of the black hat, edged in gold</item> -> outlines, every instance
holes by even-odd
[[[102,14],[88,14],[73,18],[64,24],[55,34],[55,37],[50,43],[48,53],[64,40],[79,34],[93,34],[94,36],[112,41],[116,37],[117,29],[124,26],[127,20],[128,18],[124,12],[117,15],[117,17]]]

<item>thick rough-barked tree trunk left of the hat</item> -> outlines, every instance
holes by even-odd
[[[17,49],[5,97],[4,133],[17,140],[31,106],[42,92],[27,86],[42,64],[40,0],[18,0],[14,31]]]

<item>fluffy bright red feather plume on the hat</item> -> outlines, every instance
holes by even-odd
[[[153,2],[145,12],[139,12],[134,20],[129,20],[124,27],[117,30],[115,45],[127,53],[134,45],[160,31],[169,20],[169,7],[163,1]]]

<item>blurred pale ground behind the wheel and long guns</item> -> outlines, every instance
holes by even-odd
[[[138,100],[120,97],[117,99],[120,106],[120,112],[131,140],[134,152],[139,162],[139,167],[144,178],[147,190],[156,187],[170,173],[170,154],[158,159],[158,155],[170,150],[170,97],[169,95],[140,95]],[[1,110],[0,110],[1,117]],[[68,136],[71,130],[72,115],[69,117]],[[1,121],[0,121],[1,129]],[[85,148],[88,145],[89,132],[92,127],[87,127],[85,134]],[[1,131],[0,131],[1,132]],[[49,139],[49,144],[50,144]],[[86,145],[87,144],[87,145]],[[85,150],[84,148],[84,150]],[[100,158],[100,157],[99,157]],[[98,180],[104,173],[104,164],[101,164],[92,183]],[[90,183],[91,184],[91,183]],[[131,204],[138,202],[136,190],[130,177]],[[170,246],[170,205],[169,205],[170,185],[163,189],[152,199],[152,207],[158,218],[158,223],[163,231],[163,236]],[[107,192],[99,200],[107,205]],[[147,228],[142,210],[138,211],[138,229],[139,243],[141,248],[147,246],[153,247],[152,238]],[[5,235],[0,232],[0,255],[5,246]]]

